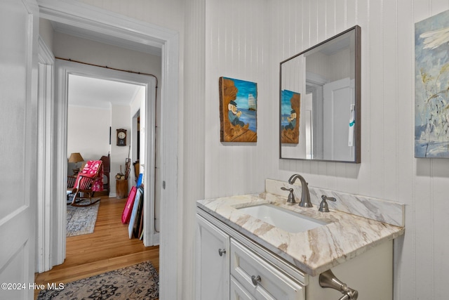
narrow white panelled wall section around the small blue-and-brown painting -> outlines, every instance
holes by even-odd
[[[206,197],[264,189],[276,164],[266,1],[206,1]],[[257,83],[257,143],[220,143],[219,77]]]

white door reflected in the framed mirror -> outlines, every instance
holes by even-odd
[[[323,87],[323,159],[354,161],[355,148],[349,145],[353,82],[346,78]]]

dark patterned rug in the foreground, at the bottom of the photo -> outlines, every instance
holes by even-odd
[[[139,299],[159,298],[159,275],[149,261],[109,271],[64,285],[64,289],[46,289],[37,300]]]

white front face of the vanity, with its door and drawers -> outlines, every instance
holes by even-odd
[[[302,273],[288,274],[276,256],[210,216],[196,220],[196,299],[305,299]]]

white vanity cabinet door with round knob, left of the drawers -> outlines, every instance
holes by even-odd
[[[197,220],[196,299],[229,299],[229,235],[203,217]]]

